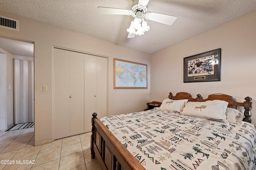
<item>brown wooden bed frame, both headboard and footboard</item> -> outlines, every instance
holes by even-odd
[[[243,121],[251,123],[252,98],[246,97],[245,101],[236,102],[232,96],[225,94],[211,94],[207,99],[202,99],[200,94],[192,98],[189,93],[179,92],[176,96],[172,93],[168,96],[172,100],[188,99],[191,102],[205,102],[208,100],[224,100],[228,102],[228,107],[244,107]],[[118,139],[108,130],[108,128],[97,118],[97,114],[92,114],[92,135],[91,135],[91,156],[97,158],[102,170],[143,170],[144,166],[118,141]]]

